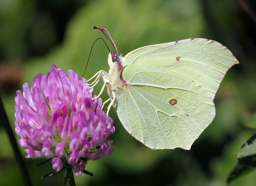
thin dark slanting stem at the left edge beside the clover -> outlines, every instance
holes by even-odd
[[[5,109],[4,109],[4,105],[3,105],[3,102],[2,102],[1,95],[0,95],[0,120],[3,123],[6,132],[8,133],[8,136],[9,136],[9,139],[11,141],[12,148],[13,148],[13,151],[14,151],[15,159],[17,160],[17,162],[19,164],[19,167],[20,167],[20,171],[21,171],[21,174],[22,174],[22,177],[23,177],[23,181],[25,182],[25,185],[32,186],[31,181],[30,181],[29,176],[28,176],[27,168],[26,168],[25,163],[24,163],[24,161],[22,159],[22,156],[20,154],[20,150],[19,150],[19,147],[17,145],[17,142],[15,141],[15,137],[14,137],[14,134],[12,132],[10,123],[7,119],[7,115],[5,113]]]

